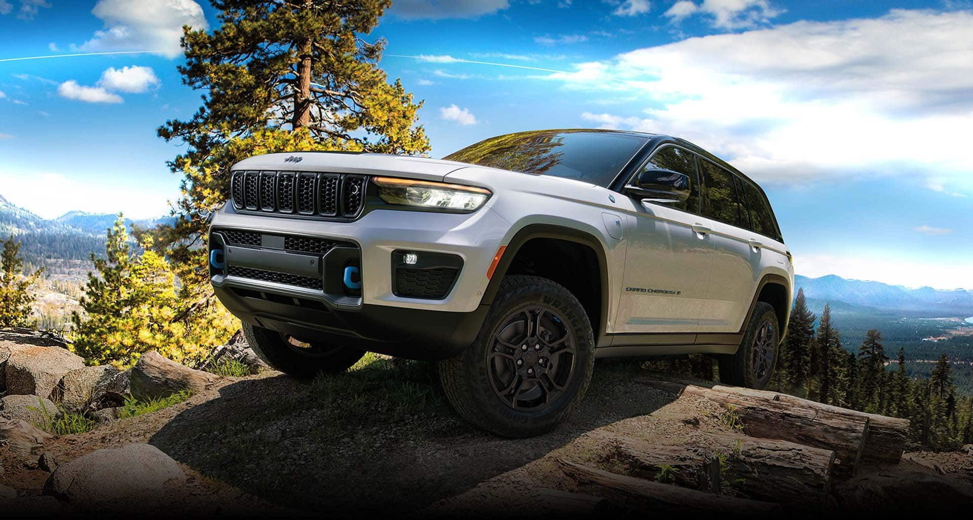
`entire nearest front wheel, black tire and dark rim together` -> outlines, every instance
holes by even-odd
[[[500,435],[549,432],[578,405],[595,366],[595,337],[581,302],[559,284],[508,276],[462,354],[439,363],[450,403]]]

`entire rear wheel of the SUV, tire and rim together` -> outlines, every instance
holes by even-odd
[[[719,357],[720,381],[764,390],[774,375],[779,343],[780,330],[774,307],[758,301],[737,353]]]

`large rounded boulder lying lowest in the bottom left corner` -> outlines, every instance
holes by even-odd
[[[78,508],[122,510],[165,502],[185,482],[183,470],[159,448],[126,444],[61,465],[44,483],[44,494]]]

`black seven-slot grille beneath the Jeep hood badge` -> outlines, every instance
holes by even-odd
[[[362,175],[234,171],[231,194],[237,210],[353,219],[365,205]]]

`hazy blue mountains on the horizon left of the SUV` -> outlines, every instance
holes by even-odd
[[[107,230],[115,223],[112,214],[69,211],[56,219],[42,219],[12,204],[0,195],[0,240],[14,234],[21,243],[24,260],[39,263],[41,259],[88,260],[90,253],[103,253]],[[126,219],[132,225],[149,227],[172,222],[160,219]]]

